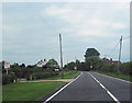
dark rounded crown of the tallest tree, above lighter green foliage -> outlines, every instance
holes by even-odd
[[[100,56],[100,53],[95,48],[87,48],[85,58],[90,57],[90,56]]]

